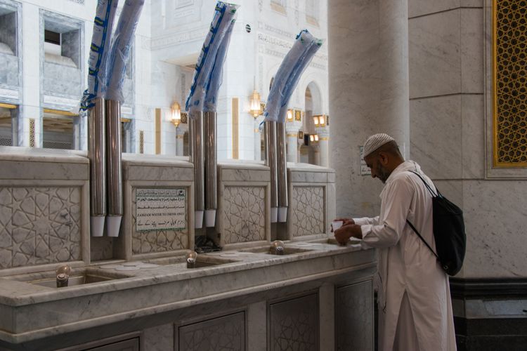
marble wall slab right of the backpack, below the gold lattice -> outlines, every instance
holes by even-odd
[[[467,254],[462,277],[527,277],[525,182],[463,182]]]

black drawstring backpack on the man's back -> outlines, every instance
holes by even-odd
[[[464,253],[467,248],[467,236],[464,232],[463,211],[452,202],[448,201],[436,187],[437,194],[424,181],[419,173],[416,174],[423,181],[428,191],[432,195],[432,217],[434,222],[434,241],[436,241],[437,253],[432,250],[430,245],[423,239],[417,229],[407,219],[406,222],[412,230],[419,235],[419,238],[434,253],[441,267],[448,275],[455,275],[461,270],[463,265]]]

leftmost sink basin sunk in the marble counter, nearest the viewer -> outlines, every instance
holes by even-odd
[[[93,268],[85,268],[81,270],[73,270],[68,279],[67,288],[70,286],[83,285],[83,284],[93,284],[99,282],[108,282],[110,280],[129,278],[129,275],[112,273],[112,272],[102,272]],[[31,273],[31,274],[20,274],[16,276],[6,277],[8,279],[18,280],[19,282],[26,282],[29,284],[47,286],[48,288],[57,288],[55,272],[46,272],[46,273]],[[63,289],[61,288],[61,289]]]

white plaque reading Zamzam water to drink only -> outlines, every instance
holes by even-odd
[[[186,227],[185,189],[136,189],[136,230]]]

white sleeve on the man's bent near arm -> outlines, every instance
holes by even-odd
[[[412,185],[404,178],[394,179],[386,185],[382,192],[381,215],[377,223],[357,223],[361,225],[365,244],[384,248],[398,243],[406,224],[414,191]]]

